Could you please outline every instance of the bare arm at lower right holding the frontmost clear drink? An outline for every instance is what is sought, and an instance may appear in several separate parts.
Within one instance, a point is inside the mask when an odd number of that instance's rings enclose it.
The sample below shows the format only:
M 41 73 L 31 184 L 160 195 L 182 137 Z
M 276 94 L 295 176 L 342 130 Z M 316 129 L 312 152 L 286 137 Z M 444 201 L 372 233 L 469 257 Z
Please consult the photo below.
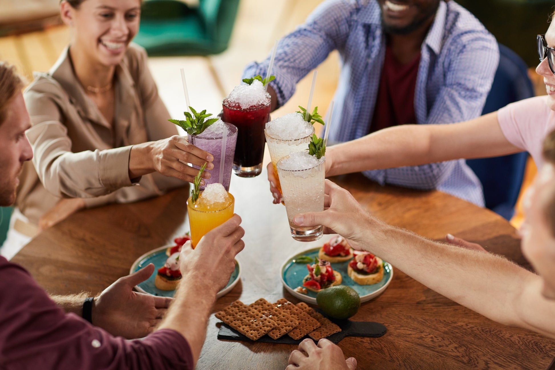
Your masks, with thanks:
M 295 216 L 300 226 L 324 225 L 351 246 L 377 254 L 434 291 L 499 323 L 555 338 L 555 301 L 541 278 L 507 259 L 430 241 L 370 216 L 345 189 L 326 180 L 329 208 Z M 431 274 L 430 271 L 434 273 Z

